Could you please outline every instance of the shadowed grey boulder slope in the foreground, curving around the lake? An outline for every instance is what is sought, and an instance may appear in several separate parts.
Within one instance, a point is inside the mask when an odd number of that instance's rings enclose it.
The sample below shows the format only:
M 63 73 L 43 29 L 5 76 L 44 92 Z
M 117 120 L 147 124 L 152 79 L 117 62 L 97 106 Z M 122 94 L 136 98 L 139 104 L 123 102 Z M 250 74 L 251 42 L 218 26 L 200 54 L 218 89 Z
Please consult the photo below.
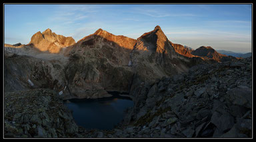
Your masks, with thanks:
M 56 91 L 5 93 L 5 137 L 251 137 L 251 67 L 250 57 L 142 82 L 111 131 L 77 127 Z

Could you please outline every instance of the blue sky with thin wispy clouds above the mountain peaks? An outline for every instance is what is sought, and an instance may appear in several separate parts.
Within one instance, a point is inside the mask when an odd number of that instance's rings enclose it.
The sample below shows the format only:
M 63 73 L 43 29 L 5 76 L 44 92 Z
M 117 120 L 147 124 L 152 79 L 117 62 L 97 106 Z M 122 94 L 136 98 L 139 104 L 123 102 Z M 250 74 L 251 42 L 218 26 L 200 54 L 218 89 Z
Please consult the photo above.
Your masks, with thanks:
M 159 25 L 173 43 L 251 52 L 251 5 L 5 5 L 5 43 L 37 31 L 79 41 L 101 28 L 137 39 Z

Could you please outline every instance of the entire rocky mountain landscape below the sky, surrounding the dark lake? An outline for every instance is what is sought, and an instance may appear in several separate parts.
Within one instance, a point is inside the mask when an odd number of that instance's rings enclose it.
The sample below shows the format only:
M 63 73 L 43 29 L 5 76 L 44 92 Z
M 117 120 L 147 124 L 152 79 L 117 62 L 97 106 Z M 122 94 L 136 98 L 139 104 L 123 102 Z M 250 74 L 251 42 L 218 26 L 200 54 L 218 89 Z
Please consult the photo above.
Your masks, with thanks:
M 98 29 L 77 42 L 39 31 L 27 45 L 5 44 L 4 135 L 252 137 L 251 59 L 172 43 L 159 26 L 137 39 Z M 134 105 L 109 131 L 79 127 L 63 103 L 113 91 Z

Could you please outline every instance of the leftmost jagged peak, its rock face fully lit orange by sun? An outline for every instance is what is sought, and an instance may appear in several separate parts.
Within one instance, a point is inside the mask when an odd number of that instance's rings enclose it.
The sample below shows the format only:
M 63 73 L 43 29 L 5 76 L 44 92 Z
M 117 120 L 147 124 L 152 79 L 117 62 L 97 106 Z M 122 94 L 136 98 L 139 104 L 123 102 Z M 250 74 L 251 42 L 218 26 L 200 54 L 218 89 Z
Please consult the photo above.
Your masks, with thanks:
M 72 37 L 64 37 L 52 33 L 51 29 L 47 29 L 41 33 L 35 33 L 31 37 L 29 45 L 33 45 L 39 51 L 49 51 L 49 53 L 59 53 L 63 47 L 73 45 L 75 40 Z

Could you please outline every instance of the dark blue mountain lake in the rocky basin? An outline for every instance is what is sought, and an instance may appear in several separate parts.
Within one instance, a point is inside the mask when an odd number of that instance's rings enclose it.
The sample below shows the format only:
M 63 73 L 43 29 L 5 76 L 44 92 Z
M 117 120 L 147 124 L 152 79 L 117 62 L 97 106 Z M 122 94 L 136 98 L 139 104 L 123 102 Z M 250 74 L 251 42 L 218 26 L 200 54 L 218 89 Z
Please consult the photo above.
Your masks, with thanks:
M 77 125 L 87 129 L 113 129 L 120 123 L 128 107 L 133 107 L 129 97 L 114 95 L 100 99 L 69 99 L 65 105 L 73 111 Z

